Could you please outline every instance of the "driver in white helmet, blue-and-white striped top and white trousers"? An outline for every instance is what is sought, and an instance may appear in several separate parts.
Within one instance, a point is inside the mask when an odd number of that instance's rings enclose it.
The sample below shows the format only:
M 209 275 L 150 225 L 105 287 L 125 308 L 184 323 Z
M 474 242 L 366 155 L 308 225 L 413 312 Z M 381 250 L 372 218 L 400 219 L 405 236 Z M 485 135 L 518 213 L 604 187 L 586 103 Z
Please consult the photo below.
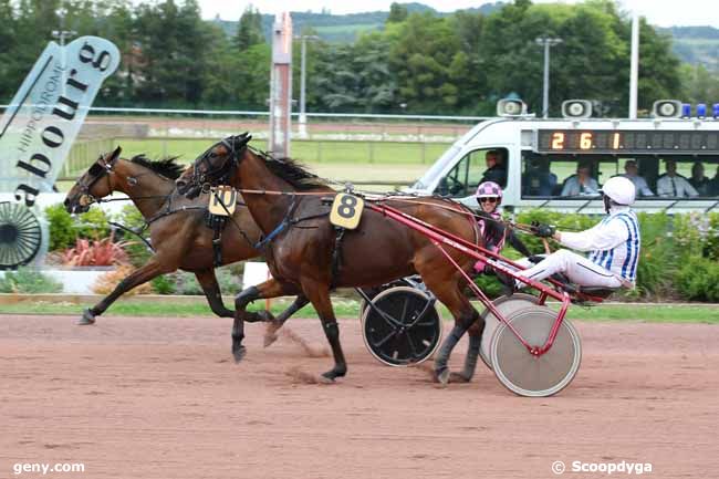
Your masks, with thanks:
M 590 251 L 588 258 L 561 249 L 546 256 L 518 274 L 541 281 L 554 273 L 564 273 L 581 287 L 634 288 L 639 261 L 640 236 L 634 204 L 634 184 L 622 176 L 609 178 L 602 188 L 607 216 L 594 228 L 581 232 L 556 231 L 553 226 L 539 225 L 536 235 L 553 238 L 565 247 Z M 527 259 L 520 261 L 530 265 Z M 517 288 L 525 284 L 517 280 Z

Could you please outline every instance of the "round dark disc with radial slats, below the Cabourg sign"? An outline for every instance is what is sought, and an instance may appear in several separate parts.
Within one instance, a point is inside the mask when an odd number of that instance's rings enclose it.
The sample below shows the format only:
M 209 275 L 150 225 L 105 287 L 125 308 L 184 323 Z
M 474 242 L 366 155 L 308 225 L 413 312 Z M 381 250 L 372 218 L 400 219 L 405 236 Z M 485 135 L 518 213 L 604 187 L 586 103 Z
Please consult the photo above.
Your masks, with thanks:
M 0 202 L 0 270 L 28 264 L 40 251 L 40 221 L 25 206 Z

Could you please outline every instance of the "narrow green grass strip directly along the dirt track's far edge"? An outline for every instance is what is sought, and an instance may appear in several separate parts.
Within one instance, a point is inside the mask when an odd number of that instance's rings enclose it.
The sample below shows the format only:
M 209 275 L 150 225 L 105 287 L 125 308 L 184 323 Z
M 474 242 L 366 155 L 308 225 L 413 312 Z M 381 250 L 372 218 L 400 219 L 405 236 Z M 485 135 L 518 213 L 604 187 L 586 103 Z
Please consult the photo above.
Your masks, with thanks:
M 272 312 L 278 314 L 289 304 L 288 300 L 272 302 Z M 333 301 L 337 317 L 359 317 L 359 305 L 355 300 L 335 299 Z M 231 305 L 226 301 L 226 305 Z M 25 302 L 19 304 L 2 305 L 2 313 L 6 314 L 69 314 L 80 315 L 82 310 L 91 304 L 71 303 L 40 303 Z M 258 301 L 249 310 L 258 311 L 264 306 L 264 302 Z M 555 308 L 556 305 L 553 305 Z M 442 306 L 440 312 L 444 319 L 449 320 L 449 312 Z M 207 303 L 197 299 L 190 304 L 174 303 L 150 303 L 135 300 L 118 301 L 105 313 L 105 315 L 126 316 L 177 316 L 195 317 L 211 316 Z M 305 306 L 295 313 L 295 317 L 316 317 L 312 306 Z M 622 304 L 609 303 L 595 305 L 593 308 L 581 308 L 573 305 L 570 309 L 569 317 L 581 321 L 639 321 L 647 323 L 706 323 L 719 324 L 719 306 L 716 305 L 654 305 L 654 304 Z

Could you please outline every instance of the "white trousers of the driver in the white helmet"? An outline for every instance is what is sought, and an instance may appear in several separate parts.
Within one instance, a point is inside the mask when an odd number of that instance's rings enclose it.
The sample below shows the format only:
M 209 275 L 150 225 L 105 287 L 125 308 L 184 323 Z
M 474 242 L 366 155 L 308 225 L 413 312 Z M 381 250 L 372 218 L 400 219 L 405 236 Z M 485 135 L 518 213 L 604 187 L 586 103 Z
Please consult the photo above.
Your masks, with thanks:
M 535 281 L 541 281 L 554 273 L 564 273 L 572 283 L 581 287 L 619 288 L 622 285 L 622 281 L 612 271 L 570 250 L 554 251 L 534 265 L 527 258 L 517 262 L 525 268 L 531 267 L 518 274 Z M 525 285 L 521 281 L 517 281 L 517 283 L 519 288 Z

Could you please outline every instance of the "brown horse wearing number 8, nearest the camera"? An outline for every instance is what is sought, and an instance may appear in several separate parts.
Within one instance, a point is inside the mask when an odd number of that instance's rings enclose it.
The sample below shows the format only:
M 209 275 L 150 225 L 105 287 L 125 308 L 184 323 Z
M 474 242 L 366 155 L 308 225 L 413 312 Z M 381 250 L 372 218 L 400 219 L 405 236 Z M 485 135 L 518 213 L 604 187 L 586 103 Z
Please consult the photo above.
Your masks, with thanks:
M 332 346 L 334 367 L 321 376 L 332 382 L 344 376 L 347 366 L 330 291 L 343 287 L 372 287 L 419 273 L 455 317 L 455 329 L 435 361 L 437 379 L 449 381 L 447 361 L 451 350 L 463 333 L 477 324 L 470 332 L 473 364 L 468 364 L 471 363 L 470 354 L 466 363 L 473 372 L 483 320 L 462 294 L 460 272 L 431 240 L 365 209 L 359 226 L 345 231 L 343 240 L 337 241 L 337 230 L 327 219 L 329 206 L 322 199 L 334 196 L 335 191 L 294 162 L 274 159 L 253 150 L 248 146 L 250 138 L 243 134 L 213 145 L 177 180 L 178 191 L 188 197 L 220 184 L 240 189 L 250 214 L 269 238 L 264 254 L 273 279 L 238 295 L 236 319 L 247 319 L 243 310 L 249 301 L 303 293 L 317 311 Z M 470 211 L 458 204 L 439 198 L 388 199 L 386 204 L 468 241 L 478 241 L 476 223 L 468 216 Z M 471 258 L 455 250 L 448 253 L 465 271 L 471 269 Z

